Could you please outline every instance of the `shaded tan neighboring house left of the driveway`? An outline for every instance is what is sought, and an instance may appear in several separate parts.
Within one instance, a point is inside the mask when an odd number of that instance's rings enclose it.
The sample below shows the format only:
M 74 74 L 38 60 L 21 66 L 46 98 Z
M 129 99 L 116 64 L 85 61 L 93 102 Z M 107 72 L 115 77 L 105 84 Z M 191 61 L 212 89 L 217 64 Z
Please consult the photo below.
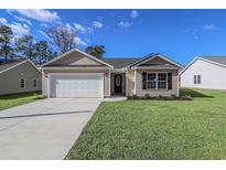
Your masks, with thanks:
M 41 91 L 42 72 L 30 60 L 0 64 L 0 95 Z

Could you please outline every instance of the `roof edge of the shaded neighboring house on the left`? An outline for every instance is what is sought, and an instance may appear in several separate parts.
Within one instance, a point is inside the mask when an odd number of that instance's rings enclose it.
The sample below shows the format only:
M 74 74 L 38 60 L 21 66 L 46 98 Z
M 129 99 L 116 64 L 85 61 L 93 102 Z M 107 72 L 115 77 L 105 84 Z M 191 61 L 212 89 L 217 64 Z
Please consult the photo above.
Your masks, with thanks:
M 20 60 L 13 60 L 13 61 L 9 61 L 7 63 L 3 63 L 0 65 L 0 74 L 3 73 L 3 72 L 7 72 L 13 67 L 17 67 L 23 63 L 26 63 L 26 62 L 30 62 L 40 73 L 41 71 L 36 67 L 36 65 L 34 65 L 33 62 L 31 62 L 30 60 L 28 59 L 20 59 Z

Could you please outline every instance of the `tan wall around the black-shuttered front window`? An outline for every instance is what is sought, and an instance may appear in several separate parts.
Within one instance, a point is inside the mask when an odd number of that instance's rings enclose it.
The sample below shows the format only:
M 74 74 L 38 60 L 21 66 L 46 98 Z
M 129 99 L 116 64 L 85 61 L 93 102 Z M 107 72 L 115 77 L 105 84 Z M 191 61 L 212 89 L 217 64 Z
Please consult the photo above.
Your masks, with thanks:
M 172 73 L 172 89 L 142 89 L 142 72 L 171 72 Z M 137 71 L 137 77 L 136 77 L 136 91 L 137 96 L 144 96 L 146 94 L 149 94 L 150 96 L 172 96 L 177 95 L 177 71 L 175 70 L 168 70 L 168 71 L 161 71 L 161 70 L 142 70 Z

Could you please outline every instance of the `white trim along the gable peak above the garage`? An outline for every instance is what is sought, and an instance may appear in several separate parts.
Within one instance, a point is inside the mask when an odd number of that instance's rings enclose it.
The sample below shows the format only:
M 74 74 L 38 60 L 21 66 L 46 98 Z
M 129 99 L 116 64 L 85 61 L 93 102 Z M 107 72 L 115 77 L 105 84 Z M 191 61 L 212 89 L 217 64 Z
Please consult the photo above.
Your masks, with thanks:
M 80 50 L 78 50 L 78 49 L 72 49 L 72 50 L 69 50 L 69 51 L 67 51 L 67 52 L 65 52 L 65 53 L 58 55 L 57 57 L 54 57 L 53 60 L 51 60 L 51 61 L 44 63 L 44 64 L 42 65 L 42 67 L 45 66 L 45 65 L 47 65 L 47 64 L 51 64 L 51 63 L 53 63 L 53 62 L 55 62 L 55 61 L 57 61 L 57 60 L 60 60 L 60 59 L 62 59 L 62 57 L 64 57 L 64 56 L 66 56 L 66 55 L 68 55 L 68 54 L 71 54 L 71 53 L 73 53 L 73 52 L 78 52 L 78 53 L 80 53 L 80 54 L 83 54 L 83 55 L 85 55 L 85 56 L 87 56 L 87 57 L 89 57 L 89 59 L 93 59 L 94 61 L 97 61 L 97 62 L 99 62 L 99 63 L 101 63 L 101 64 L 105 64 L 105 65 L 107 65 L 107 66 L 114 68 L 112 65 L 110 65 L 110 64 L 108 64 L 108 63 L 106 63 L 106 62 L 104 62 L 104 61 L 101 61 L 101 60 L 99 60 L 99 59 L 97 59 L 97 57 L 95 57 L 95 56 L 92 56 L 92 55 L 89 55 L 89 54 L 87 54 L 87 53 L 85 53 L 85 52 L 83 52 L 83 51 L 80 51 Z

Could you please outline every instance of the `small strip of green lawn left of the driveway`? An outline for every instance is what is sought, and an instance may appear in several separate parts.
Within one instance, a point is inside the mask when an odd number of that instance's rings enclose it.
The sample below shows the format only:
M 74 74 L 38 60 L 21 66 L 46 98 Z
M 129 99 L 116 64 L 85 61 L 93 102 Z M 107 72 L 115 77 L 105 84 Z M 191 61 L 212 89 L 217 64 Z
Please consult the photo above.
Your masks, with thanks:
M 15 95 L 0 96 L 0 110 L 24 105 L 41 98 L 41 93 L 23 93 Z

